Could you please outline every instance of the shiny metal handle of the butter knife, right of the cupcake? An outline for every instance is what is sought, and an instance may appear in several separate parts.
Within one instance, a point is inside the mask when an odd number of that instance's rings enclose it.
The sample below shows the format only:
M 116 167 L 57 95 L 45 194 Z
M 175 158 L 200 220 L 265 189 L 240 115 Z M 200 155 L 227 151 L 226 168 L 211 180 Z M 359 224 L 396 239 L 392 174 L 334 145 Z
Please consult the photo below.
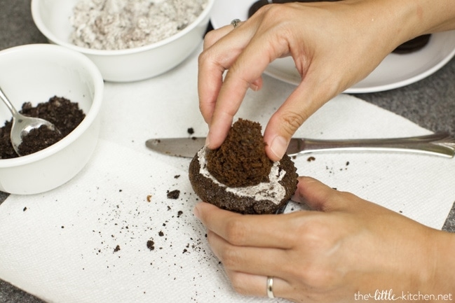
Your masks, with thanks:
M 312 153 L 315 150 L 400 151 L 454 157 L 455 139 L 447 132 L 393 139 L 297 139 L 291 141 L 288 155 Z

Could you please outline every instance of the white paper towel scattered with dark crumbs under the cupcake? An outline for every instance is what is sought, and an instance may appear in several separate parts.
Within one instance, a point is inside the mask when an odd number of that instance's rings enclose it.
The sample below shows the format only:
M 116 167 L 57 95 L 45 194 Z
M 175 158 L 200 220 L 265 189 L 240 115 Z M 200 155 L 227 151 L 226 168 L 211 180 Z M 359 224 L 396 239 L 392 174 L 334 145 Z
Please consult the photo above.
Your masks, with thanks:
M 147 150 L 150 138 L 205 136 L 197 55 L 163 76 L 106 83 L 92 160 L 69 183 L 0 205 L 0 278 L 48 302 L 264 302 L 233 292 L 193 216 L 188 159 Z M 294 86 L 264 76 L 238 117 L 265 127 Z M 317 139 L 429 134 L 365 101 L 340 95 L 296 136 Z M 315 153 L 299 174 L 354 192 L 440 229 L 455 201 L 455 160 L 409 153 Z M 177 199 L 168 192 L 179 190 Z M 151 245 L 153 241 L 153 249 Z M 149 245 L 148 245 L 149 244 Z M 265 286 L 264 286 L 265 293 Z M 273 300 L 273 302 L 281 300 Z

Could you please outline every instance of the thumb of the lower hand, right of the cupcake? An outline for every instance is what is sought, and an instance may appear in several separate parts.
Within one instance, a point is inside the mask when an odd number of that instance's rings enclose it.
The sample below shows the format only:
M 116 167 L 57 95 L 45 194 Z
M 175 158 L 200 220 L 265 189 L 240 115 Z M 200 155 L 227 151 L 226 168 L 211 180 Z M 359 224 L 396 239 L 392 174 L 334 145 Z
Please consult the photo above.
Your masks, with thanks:
M 305 203 L 317 211 L 336 211 L 346 206 L 347 198 L 344 195 L 350 194 L 334 190 L 314 178 L 301 176 L 291 199 Z M 353 199 L 349 197 L 348 200 Z

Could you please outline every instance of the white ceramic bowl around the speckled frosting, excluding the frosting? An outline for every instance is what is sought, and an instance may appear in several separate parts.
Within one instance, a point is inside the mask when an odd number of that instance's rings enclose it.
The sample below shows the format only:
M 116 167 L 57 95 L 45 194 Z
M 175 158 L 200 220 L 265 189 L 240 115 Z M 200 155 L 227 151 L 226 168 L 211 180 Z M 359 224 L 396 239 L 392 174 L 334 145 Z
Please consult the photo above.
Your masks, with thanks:
M 208 0 L 201 15 L 174 36 L 162 41 L 125 50 L 92 50 L 70 42 L 69 17 L 77 0 L 32 0 L 36 27 L 50 43 L 82 52 L 100 69 L 104 80 L 129 82 L 157 76 L 180 64 L 203 40 L 210 10 L 215 0 Z

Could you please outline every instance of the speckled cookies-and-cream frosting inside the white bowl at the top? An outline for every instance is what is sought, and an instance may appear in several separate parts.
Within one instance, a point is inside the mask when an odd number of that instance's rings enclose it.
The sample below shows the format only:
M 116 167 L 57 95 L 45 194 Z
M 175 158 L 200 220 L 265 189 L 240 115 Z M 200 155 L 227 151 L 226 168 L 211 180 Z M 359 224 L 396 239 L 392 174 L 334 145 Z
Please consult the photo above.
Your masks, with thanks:
M 207 5 L 207 0 L 79 0 L 70 17 L 71 41 L 97 50 L 141 47 L 182 31 Z

